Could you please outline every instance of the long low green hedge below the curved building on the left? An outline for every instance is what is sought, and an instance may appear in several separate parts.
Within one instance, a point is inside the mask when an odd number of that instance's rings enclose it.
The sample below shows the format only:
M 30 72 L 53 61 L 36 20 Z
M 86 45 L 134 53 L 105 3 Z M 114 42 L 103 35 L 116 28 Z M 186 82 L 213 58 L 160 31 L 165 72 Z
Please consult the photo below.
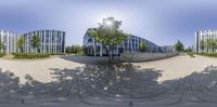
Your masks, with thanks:
M 14 58 L 46 58 L 50 54 L 44 53 L 13 53 Z

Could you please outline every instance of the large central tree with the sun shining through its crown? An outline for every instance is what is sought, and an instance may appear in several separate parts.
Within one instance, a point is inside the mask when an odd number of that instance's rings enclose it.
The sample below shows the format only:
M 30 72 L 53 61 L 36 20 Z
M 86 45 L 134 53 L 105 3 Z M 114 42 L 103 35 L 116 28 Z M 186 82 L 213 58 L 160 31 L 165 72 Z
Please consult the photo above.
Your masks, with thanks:
M 127 40 L 129 35 L 124 34 L 119 29 L 122 21 L 116 21 L 114 17 L 103 18 L 102 23 L 99 23 L 99 27 L 91 29 L 88 34 L 94 39 L 94 41 L 106 45 L 108 52 L 108 62 L 113 58 L 113 51 L 115 46 L 118 46 L 123 41 Z

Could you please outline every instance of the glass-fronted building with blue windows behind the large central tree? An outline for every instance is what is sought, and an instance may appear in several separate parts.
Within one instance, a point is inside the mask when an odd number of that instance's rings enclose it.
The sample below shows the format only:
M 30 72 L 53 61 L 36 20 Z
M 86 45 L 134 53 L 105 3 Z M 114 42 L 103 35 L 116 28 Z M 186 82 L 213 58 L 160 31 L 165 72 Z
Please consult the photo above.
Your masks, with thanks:
M 89 28 L 88 30 L 91 30 Z M 88 31 L 87 31 L 88 32 Z M 85 53 L 87 55 L 93 56 L 106 56 L 108 53 L 106 52 L 106 46 L 102 45 L 99 42 L 95 42 L 91 36 L 86 32 L 84 37 L 82 45 L 85 48 Z M 146 45 L 146 52 L 163 52 L 161 46 L 156 45 L 155 43 L 143 39 L 138 36 L 130 36 L 123 44 L 117 45 L 114 51 L 114 55 L 119 55 L 120 53 L 139 53 L 140 52 L 140 44 L 144 42 Z M 170 50 L 167 48 L 167 50 Z

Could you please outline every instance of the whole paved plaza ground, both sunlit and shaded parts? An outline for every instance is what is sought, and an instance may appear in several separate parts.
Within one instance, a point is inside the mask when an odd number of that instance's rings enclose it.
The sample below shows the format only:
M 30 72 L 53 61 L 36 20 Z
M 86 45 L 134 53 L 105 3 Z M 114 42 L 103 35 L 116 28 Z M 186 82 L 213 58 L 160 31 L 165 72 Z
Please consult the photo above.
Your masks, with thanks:
M 9 70 L 0 71 L 0 106 L 217 106 L 217 58 L 90 65 L 93 59 L 0 59 L 0 68 Z

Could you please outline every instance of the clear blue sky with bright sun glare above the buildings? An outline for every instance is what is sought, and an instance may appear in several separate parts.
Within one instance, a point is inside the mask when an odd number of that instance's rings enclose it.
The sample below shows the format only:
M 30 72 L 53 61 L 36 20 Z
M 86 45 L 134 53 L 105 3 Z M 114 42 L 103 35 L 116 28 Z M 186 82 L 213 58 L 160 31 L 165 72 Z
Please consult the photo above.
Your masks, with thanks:
M 126 34 L 189 46 L 196 30 L 217 29 L 216 5 L 217 0 L 0 0 L 0 29 L 64 30 L 66 44 L 82 44 L 88 28 L 114 16 Z

